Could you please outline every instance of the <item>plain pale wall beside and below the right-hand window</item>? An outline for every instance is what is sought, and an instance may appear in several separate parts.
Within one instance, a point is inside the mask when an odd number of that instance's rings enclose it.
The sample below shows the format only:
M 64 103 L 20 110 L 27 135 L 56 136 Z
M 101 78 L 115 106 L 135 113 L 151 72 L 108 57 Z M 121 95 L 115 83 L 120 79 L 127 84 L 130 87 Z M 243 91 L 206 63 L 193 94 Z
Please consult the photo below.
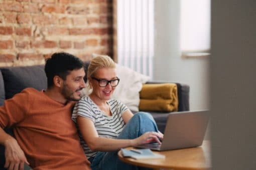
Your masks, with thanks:
M 181 58 L 180 0 L 155 0 L 154 80 L 190 86 L 190 110 L 208 109 L 209 58 Z

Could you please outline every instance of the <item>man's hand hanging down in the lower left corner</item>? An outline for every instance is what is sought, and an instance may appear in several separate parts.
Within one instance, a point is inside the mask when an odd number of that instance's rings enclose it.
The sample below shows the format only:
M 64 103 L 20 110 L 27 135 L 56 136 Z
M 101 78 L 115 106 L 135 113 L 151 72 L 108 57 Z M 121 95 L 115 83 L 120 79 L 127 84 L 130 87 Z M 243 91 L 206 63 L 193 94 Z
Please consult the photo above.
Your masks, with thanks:
M 8 170 L 23 170 L 24 163 L 29 165 L 29 162 L 21 149 L 20 145 L 18 144 L 17 140 L 13 137 L 9 137 L 5 140 L 5 156 L 6 156 L 6 163 L 5 168 Z

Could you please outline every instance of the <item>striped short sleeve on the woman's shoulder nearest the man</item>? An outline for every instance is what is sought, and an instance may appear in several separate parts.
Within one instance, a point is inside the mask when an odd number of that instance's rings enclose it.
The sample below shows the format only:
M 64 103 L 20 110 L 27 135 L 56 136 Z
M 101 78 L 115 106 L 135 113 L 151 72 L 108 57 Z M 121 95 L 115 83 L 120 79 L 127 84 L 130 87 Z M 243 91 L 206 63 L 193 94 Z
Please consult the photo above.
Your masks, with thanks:
M 91 104 L 84 98 L 81 98 L 74 106 L 72 120 L 76 122 L 77 116 L 89 118 L 93 122 L 96 120 L 95 115 L 93 115 Z

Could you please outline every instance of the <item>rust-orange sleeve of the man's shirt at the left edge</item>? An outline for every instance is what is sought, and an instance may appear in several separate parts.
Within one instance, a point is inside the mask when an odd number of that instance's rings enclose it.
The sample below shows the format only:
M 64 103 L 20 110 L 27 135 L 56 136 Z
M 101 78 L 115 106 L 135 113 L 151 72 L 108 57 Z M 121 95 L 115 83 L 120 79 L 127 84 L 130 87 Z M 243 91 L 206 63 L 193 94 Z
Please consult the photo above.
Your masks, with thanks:
M 19 125 L 25 119 L 29 110 L 29 93 L 23 90 L 14 97 L 5 100 L 4 105 L 0 106 L 0 127 L 11 127 Z

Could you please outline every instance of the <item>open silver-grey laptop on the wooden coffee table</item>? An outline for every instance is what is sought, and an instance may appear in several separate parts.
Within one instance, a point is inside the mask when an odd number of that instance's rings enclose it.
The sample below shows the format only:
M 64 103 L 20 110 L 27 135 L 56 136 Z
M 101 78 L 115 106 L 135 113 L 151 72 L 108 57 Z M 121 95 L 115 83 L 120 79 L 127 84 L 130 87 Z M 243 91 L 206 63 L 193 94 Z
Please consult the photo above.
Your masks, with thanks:
M 169 113 L 162 143 L 138 145 L 152 150 L 172 150 L 202 145 L 209 110 L 180 111 Z

